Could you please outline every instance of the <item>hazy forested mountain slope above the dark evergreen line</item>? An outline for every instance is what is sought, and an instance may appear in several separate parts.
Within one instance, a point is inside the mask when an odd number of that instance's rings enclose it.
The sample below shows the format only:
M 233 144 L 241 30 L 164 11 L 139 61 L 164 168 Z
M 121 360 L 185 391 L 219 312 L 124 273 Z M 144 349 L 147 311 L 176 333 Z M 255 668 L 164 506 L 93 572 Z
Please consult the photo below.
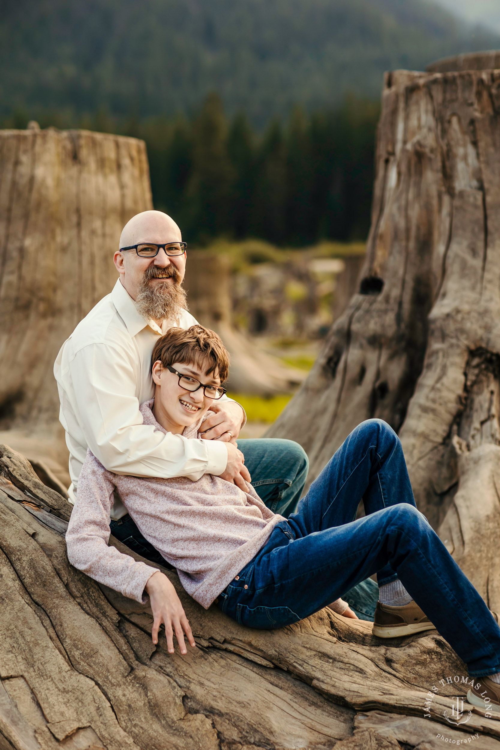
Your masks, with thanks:
M 500 46 L 424 0 L 3 0 L 0 117 L 189 113 L 217 90 L 256 125 L 379 97 L 382 73 Z

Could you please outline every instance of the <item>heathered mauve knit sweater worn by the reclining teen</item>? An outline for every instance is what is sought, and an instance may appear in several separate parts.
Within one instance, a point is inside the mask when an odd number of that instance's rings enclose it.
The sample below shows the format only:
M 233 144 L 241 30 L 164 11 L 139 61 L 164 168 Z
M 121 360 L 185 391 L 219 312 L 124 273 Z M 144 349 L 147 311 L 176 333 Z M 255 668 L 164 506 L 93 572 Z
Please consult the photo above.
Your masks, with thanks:
M 164 433 L 152 406 L 153 401 L 142 404 L 143 422 Z M 199 437 L 200 423 L 185 428 L 183 437 Z M 244 492 L 211 474 L 197 481 L 118 475 L 88 450 L 66 532 L 68 559 L 94 580 L 142 603 L 157 568 L 107 546 L 115 488 L 142 535 L 177 568 L 184 589 L 205 609 L 285 520 L 264 505 L 251 484 Z M 342 599 L 334 602 L 340 613 L 346 607 Z

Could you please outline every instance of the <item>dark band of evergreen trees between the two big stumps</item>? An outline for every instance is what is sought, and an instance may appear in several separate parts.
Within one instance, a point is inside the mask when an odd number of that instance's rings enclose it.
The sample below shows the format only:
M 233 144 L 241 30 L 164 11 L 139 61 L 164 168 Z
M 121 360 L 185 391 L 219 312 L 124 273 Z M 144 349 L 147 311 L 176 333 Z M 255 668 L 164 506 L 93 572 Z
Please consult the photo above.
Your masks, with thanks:
M 191 241 L 297 246 L 367 236 L 378 116 L 378 104 L 351 97 L 310 115 L 296 107 L 258 134 L 211 94 L 195 118 L 156 118 L 135 133 L 148 146 L 154 205 Z

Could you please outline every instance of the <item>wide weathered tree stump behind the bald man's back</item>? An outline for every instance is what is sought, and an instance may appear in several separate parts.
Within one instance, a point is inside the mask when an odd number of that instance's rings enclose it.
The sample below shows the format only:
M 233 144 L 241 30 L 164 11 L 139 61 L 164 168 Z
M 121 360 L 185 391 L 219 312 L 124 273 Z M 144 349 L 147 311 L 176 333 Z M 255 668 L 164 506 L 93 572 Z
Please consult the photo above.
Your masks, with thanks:
M 121 229 L 148 208 L 144 142 L 0 131 L 0 428 L 57 421 L 55 356 L 111 291 Z

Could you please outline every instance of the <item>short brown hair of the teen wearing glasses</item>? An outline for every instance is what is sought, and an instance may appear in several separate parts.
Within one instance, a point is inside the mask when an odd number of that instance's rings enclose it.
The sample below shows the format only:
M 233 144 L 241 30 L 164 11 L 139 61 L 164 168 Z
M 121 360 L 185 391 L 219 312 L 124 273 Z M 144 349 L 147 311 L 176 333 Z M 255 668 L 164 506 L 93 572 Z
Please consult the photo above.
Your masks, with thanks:
M 220 382 L 223 383 L 229 374 L 229 354 L 220 340 L 220 336 L 203 326 L 191 326 L 189 329 L 171 328 L 158 339 L 151 357 L 151 369 L 154 362 L 160 360 L 162 366 L 182 362 L 185 365 L 199 365 L 207 375 L 219 370 Z

